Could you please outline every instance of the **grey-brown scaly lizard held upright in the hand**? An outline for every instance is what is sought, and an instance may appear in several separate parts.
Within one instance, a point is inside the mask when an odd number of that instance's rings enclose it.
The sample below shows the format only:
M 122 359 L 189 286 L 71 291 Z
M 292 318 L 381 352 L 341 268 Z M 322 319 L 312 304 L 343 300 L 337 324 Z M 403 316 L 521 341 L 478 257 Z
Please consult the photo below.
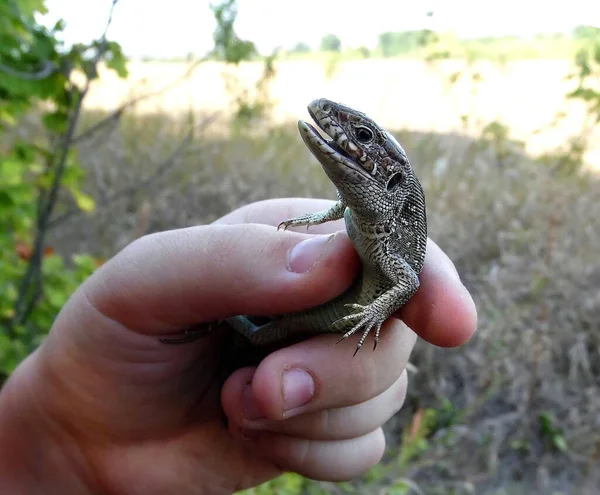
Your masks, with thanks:
M 254 346 L 268 346 L 298 335 L 342 333 L 341 342 L 362 331 L 354 355 L 419 288 L 427 246 L 423 188 L 398 141 L 367 115 L 321 98 L 308 105 L 313 125 L 298 121 L 305 145 L 337 189 L 338 200 L 327 210 L 307 213 L 279 224 L 319 225 L 344 219 L 361 260 L 353 285 L 338 297 L 304 311 L 279 315 L 257 325 L 251 317 L 225 321 Z M 203 330 L 189 330 L 179 343 L 195 340 Z

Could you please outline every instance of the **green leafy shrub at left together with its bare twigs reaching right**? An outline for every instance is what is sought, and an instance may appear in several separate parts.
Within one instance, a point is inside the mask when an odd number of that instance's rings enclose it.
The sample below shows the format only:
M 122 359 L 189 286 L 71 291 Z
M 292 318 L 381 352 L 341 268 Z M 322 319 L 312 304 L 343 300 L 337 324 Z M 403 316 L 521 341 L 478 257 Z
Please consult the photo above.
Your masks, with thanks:
M 85 170 L 78 161 L 77 145 L 111 131 L 129 109 L 176 86 L 206 60 L 192 64 L 158 91 L 129 98 L 81 130 L 80 117 L 100 66 L 127 76 L 121 47 L 107 38 L 117 4 L 118 0 L 110 3 L 103 32 L 96 40 L 65 47 L 58 36 L 63 21 L 48 28 L 37 20 L 46 13 L 44 0 L 0 2 L 0 137 L 8 137 L 1 141 L 8 147 L 0 154 L 0 381 L 39 344 L 70 294 L 99 263 L 92 256 L 75 255 L 67 267 L 47 245 L 50 230 L 83 211 L 108 206 L 150 187 L 189 153 L 198 128 L 211 122 L 208 118 L 195 125 L 191 118 L 185 135 L 146 178 L 136 178 L 111 193 L 99 184 L 98 198 L 82 191 Z M 225 0 L 213 9 L 218 28 L 210 57 L 229 63 L 256 54 L 251 42 L 235 34 L 235 5 Z M 272 74 L 272 60 L 267 68 L 265 73 Z M 25 115 L 39 116 L 45 142 L 21 131 L 7 132 Z M 93 173 L 100 183 L 103 171 L 95 167 Z M 59 212 L 65 193 L 74 204 Z

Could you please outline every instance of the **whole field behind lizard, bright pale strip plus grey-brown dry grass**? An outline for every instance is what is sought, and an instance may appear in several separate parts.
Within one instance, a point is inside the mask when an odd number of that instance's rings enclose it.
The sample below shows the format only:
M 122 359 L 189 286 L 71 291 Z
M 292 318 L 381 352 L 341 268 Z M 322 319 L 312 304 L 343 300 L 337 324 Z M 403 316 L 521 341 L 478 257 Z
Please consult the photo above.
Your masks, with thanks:
M 66 217 L 52 243 L 65 254 L 107 257 L 144 232 L 210 222 L 251 201 L 333 198 L 289 122 L 306 117 L 314 97 L 344 101 L 395 130 L 415 164 L 430 236 L 472 291 L 478 331 L 459 349 L 418 344 L 406 406 L 387 428 L 389 455 L 372 473 L 296 491 L 284 477 L 262 493 L 597 493 L 600 182 L 593 173 L 564 173 L 572 157 L 556 151 L 581 132 L 584 109 L 564 99 L 566 62 L 467 69 L 481 72 L 481 82 L 450 85 L 449 75 L 465 70 L 459 62 L 365 60 L 333 70 L 284 63 L 271 85 L 281 125 L 255 122 L 228 135 L 209 125 L 176 151 L 191 114 L 201 123 L 230 108 L 223 67 L 209 63 L 79 147 L 98 209 Z M 184 71 L 132 64 L 129 81 L 106 77 L 90 95 L 84 125 Z M 239 76 L 259 73 L 247 64 Z M 559 125 L 534 133 L 558 112 L 567 115 Z M 491 120 L 525 148 L 482 138 Z M 552 154 L 541 162 L 541 152 Z M 586 155 L 590 164 L 600 163 L 597 153 Z

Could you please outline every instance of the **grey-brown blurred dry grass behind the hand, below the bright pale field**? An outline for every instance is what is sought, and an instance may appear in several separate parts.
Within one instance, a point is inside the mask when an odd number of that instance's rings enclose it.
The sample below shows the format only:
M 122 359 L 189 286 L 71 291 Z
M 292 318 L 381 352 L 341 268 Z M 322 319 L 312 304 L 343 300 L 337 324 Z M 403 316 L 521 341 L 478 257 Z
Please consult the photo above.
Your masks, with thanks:
M 168 114 L 138 115 L 86 142 L 87 189 L 102 202 L 152 176 L 185 127 Z M 388 438 L 397 445 L 403 425 L 433 408 L 428 446 L 403 462 L 392 449 L 359 491 L 404 477 L 428 494 L 590 493 L 585 487 L 599 481 L 589 469 L 600 441 L 599 181 L 553 174 L 518 146 L 499 161 L 481 140 L 397 135 L 426 191 L 430 236 L 472 291 L 479 328 L 460 349 L 418 345 L 418 372 Z M 52 242 L 65 253 L 110 256 L 146 225 L 158 231 L 210 222 L 281 196 L 334 197 L 293 125 L 222 139 L 199 133 L 148 187 L 101 206 L 91 221 L 70 218 Z M 542 413 L 564 435 L 565 452 L 540 429 Z

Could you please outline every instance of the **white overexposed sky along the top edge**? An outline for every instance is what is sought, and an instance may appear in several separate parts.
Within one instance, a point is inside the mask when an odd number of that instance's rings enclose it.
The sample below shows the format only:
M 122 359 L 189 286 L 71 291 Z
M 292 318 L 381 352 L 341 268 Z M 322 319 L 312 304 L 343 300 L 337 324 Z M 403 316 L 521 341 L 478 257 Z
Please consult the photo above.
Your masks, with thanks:
M 213 0 L 214 1 L 214 0 Z M 235 29 L 263 54 L 302 41 L 317 47 L 325 34 L 346 47 L 373 48 L 385 31 L 452 30 L 461 37 L 566 32 L 600 27 L 597 0 L 238 0 Z M 66 21 L 65 42 L 86 42 L 104 30 L 110 0 L 47 0 L 52 25 Z M 426 13 L 432 11 L 432 17 Z M 108 37 L 130 57 L 204 55 L 215 22 L 210 0 L 120 0 Z

